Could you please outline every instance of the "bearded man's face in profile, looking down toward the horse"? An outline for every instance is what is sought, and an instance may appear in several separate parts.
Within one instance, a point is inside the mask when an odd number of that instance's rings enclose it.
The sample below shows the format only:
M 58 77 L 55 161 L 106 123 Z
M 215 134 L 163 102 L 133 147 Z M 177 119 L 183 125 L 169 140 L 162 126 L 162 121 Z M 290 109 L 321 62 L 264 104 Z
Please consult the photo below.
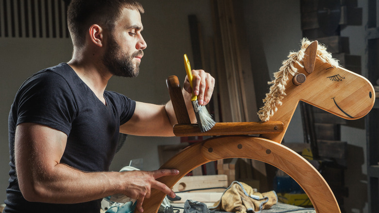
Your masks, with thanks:
M 139 12 L 124 8 L 113 32 L 108 36 L 103 55 L 103 63 L 113 75 L 138 75 L 142 50 L 146 48 L 141 35 L 142 29 Z

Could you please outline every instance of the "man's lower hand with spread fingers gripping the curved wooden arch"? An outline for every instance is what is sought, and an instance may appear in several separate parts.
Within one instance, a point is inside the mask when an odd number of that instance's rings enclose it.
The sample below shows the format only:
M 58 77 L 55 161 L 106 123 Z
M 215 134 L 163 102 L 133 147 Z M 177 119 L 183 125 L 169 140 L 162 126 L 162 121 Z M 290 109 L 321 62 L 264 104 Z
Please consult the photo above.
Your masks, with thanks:
M 176 196 L 168 186 L 156 180 L 159 177 L 179 174 L 179 171 L 176 169 L 160 169 L 155 171 L 135 170 L 122 173 L 124 173 L 128 182 L 127 186 L 125 186 L 126 193 L 124 194 L 130 198 L 137 199 L 137 209 L 141 213 L 143 212 L 143 200 L 145 197 L 150 197 L 152 188 L 160 190 L 172 198 Z

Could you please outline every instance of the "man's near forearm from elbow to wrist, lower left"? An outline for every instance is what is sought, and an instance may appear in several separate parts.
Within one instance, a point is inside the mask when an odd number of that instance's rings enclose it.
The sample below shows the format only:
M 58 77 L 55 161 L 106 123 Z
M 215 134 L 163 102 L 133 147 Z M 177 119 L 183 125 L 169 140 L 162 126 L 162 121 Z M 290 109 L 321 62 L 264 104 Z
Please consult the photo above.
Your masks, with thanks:
M 19 185 L 25 199 L 47 203 L 81 203 L 120 194 L 125 189 L 119 172 L 82 172 L 66 164 L 50 171 L 32 171 L 25 179 L 19 174 Z

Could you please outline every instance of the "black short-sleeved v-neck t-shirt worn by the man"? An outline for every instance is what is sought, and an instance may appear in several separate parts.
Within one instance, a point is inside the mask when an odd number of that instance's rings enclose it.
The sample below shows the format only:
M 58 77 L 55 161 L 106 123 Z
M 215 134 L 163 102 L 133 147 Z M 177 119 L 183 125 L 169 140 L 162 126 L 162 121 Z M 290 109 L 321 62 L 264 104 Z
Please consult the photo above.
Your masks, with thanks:
M 120 125 L 132 117 L 136 102 L 111 91 L 104 91 L 104 98 L 106 105 L 66 63 L 39 71 L 21 85 L 8 118 L 11 170 L 5 213 L 99 213 L 101 200 L 79 204 L 26 201 L 18 186 L 14 142 L 17 124 L 47 125 L 68 135 L 61 163 L 86 172 L 108 171 Z

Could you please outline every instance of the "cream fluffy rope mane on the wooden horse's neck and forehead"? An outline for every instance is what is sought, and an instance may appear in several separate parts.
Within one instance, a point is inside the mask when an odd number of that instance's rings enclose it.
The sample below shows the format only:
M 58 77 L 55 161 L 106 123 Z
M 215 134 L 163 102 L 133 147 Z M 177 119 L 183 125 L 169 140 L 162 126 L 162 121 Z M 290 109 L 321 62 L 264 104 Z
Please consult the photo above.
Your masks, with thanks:
M 258 117 L 261 121 L 269 121 L 270 117 L 274 115 L 277 111 L 277 107 L 282 105 L 282 100 L 286 96 L 286 86 L 288 79 L 292 78 L 294 75 L 298 74 L 295 64 L 304 68 L 301 61 L 304 58 L 305 50 L 312 43 L 312 41 L 307 38 L 301 40 L 301 49 L 298 52 L 290 52 L 288 59 L 282 62 L 282 66 L 279 71 L 274 73 L 275 80 L 268 82 L 272 84 L 270 87 L 270 92 L 266 94 L 266 98 L 263 99 L 264 106 L 262 106 L 258 111 Z M 319 58 L 323 63 L 328 63 L 332 67 L 339 67 L 337 59 L 334 59 L 331 53 L 327 52 L 327 48 L 323 44 L 318 44 L 316 57 Z

